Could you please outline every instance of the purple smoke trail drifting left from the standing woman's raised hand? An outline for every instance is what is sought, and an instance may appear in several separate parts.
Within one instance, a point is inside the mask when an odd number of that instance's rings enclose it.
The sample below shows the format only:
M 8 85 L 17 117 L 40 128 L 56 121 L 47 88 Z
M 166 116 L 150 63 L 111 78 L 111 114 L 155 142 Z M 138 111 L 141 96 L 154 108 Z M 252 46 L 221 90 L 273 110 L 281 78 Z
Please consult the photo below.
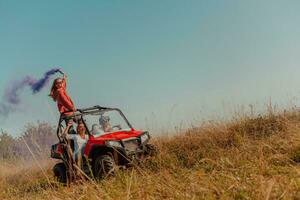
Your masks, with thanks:
M 47 85 L 51 76 L 57 72 L 61 72 L 61 70 L 54 68 L 47 71 L 44 77 L 39 80 L 26 76 L 22 80 L 12 82 L 4 92 L 3 101 L 0 102 L 0 115 L 8 116 L 9 113 L 15 111 L 16 106 L 21 103 L 20 92 L 23 91 L 25 87 L 29 86 L 33 94 L 36 94 Z

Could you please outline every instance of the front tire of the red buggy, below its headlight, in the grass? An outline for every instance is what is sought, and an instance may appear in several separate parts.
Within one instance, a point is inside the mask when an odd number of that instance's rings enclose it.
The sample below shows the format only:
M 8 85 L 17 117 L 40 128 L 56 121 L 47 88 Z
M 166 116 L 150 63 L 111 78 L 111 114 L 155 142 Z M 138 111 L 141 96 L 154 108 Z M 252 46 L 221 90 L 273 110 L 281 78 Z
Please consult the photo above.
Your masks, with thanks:
M 96 180 L 104 179 L 108 176 L 115 175 L 115 160 L 110 155 L 101 155 L 95 159 L 93 165 L 94 177 Z

